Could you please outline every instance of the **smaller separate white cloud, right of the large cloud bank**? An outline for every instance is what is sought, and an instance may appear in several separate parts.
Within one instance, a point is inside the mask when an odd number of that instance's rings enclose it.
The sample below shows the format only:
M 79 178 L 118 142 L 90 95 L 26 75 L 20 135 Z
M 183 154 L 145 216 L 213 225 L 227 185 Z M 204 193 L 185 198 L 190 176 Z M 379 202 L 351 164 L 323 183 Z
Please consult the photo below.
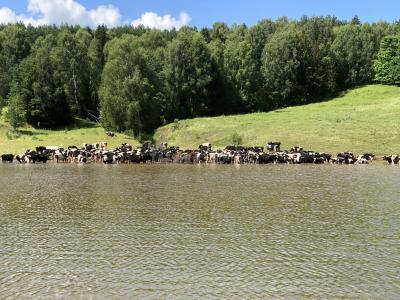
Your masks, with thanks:
M 131 25 L 143 25 L 149 28 L 170 30 L 172 28 L 179 29 L 182 26 L 188 25 L 190 20 L 190 16 L 185 12 L 180 13 L 179 19 L 175 19 L 171 15 L 159 16 L 154 12 L 146 12 L 142 14 L 139 19 L 134 20 Z

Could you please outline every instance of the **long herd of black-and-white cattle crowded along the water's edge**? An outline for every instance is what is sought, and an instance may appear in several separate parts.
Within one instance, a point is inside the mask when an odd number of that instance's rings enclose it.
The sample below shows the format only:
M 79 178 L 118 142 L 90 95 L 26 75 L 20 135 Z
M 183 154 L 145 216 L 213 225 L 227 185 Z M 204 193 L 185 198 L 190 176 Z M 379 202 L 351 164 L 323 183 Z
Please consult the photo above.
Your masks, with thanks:
M 179 147 L 168 147 L 162 143 L 155 147 L 150 142 L 139 148 L 129 144 L 109 150 L 107 143 L 83 144 L 81 147 L 70 146 L 59 148 L 56 146 L 36 147 L 28 149 L 20 155 L 4 154 L 3 162 L 18 163 L 212 163 L 212 164 L 368 164 L 375 159 L 375 155 L 365 153 L 355 155 L 352 152 L 341 152 L 333 157 L 331 154 L 304 150 L 295 146 L 290 150 L 281 151 L 281 143 L 269 142 L 266 147 L 227 146 L 224 150 L 213 151 L 211 144 L 202 144 L 196 150 L 181 150 Z M 389 164 L 399 164 L 399 155 L 384 156 Z

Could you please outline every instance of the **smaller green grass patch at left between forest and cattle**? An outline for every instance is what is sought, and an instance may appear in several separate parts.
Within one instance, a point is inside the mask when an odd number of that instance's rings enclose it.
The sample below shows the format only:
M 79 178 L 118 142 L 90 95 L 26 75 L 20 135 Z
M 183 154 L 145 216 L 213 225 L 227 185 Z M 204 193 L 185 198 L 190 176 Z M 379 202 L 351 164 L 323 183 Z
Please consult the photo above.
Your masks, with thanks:
M 93 144 L 99 142 L 107 142 L 109 148 L 114 148 L 123 142 L 131 145 L 138 144 L 136 140 L 124 134 L 117 134 L 115 137 L 109 138 L 100 125 L 84 120 L 76 120 L 73 126 L 63 130 L 43 130 L 26 127 L 21 128 L 18 132 L 14 132 L 7 123 L 0 122 L 1 154 L 18 154 L 36 146 L 68 147 L 74 145 L 80 147 L 83 143 Z

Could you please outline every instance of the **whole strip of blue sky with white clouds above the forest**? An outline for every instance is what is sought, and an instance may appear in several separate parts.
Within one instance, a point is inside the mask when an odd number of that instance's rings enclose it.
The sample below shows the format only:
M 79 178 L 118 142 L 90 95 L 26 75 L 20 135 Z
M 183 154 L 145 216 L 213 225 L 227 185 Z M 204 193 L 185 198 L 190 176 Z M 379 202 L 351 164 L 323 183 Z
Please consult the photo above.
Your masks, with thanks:
M 211 27 L 214 22 L 246 23 L 281 16 L 335 15 L 362 22 L 400 18 L 400 0 L 0 0 L 0 23 L 142 24 L 172 29 L 185 25 Z

